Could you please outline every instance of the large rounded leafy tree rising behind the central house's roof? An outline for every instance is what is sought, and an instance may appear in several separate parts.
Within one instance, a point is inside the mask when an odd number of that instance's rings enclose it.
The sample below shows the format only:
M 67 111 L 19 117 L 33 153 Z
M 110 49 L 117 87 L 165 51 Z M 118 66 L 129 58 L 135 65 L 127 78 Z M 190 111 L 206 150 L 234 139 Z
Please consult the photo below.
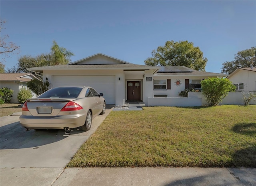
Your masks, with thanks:
M 152 51 L 152 57 L 144 63 L 151 66 L 186 66 L 194 70 L 205 71 L 207 58 L 192 42 L 167 41 L 164 46 L 158 46 Z

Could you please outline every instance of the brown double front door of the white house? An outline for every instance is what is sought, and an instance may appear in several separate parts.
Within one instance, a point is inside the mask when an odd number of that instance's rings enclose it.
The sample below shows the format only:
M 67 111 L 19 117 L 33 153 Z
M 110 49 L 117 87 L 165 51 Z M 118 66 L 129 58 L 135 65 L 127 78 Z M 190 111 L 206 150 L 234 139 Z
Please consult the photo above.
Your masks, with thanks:
M 140 81 L 127 82 L 127 101 L 140 101 Z

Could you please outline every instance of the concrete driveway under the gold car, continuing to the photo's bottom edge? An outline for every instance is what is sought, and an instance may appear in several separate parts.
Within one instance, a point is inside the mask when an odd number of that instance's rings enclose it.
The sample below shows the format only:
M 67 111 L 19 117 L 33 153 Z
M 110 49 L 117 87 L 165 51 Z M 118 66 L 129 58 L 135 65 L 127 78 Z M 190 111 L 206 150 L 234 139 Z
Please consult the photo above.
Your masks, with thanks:
M 1 186 L 51 186 L 65 170 L 66 164 L 78 148 L 100 126 L 106 113 L 92 120 L 92 128 L 64 130 L 25 131 L 19 123 L 20 116 L 0 118 L 0 185 Z

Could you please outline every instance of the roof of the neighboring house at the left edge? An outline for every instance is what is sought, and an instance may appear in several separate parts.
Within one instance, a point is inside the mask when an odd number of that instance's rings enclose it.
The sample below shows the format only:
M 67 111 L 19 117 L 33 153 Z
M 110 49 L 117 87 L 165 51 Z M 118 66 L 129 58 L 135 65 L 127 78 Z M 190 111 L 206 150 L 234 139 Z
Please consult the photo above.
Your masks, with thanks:
M 34 78 L 36 78 L 31 73 L 1 73 L 0 79 L 1 79 L 1 81 L 20 81 L 20 82 L 30 81 L 31 79 L 26 78 L 26 76 L 33 76 Z

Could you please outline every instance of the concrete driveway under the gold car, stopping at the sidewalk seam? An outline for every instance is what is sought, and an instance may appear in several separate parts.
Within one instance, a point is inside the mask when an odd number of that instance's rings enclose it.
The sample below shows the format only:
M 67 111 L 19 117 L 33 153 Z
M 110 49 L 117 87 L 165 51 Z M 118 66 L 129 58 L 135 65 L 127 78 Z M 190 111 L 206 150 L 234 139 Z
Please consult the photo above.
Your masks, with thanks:
M 1 117 L 1 168 L 64 168 L 78 148 L 98 128 L 112 110 L 108 106 L 104 115 L 92 120 L 92 128 L 84 132 L 79 128 L 64 130 L 25 131 L 19 116 Z

